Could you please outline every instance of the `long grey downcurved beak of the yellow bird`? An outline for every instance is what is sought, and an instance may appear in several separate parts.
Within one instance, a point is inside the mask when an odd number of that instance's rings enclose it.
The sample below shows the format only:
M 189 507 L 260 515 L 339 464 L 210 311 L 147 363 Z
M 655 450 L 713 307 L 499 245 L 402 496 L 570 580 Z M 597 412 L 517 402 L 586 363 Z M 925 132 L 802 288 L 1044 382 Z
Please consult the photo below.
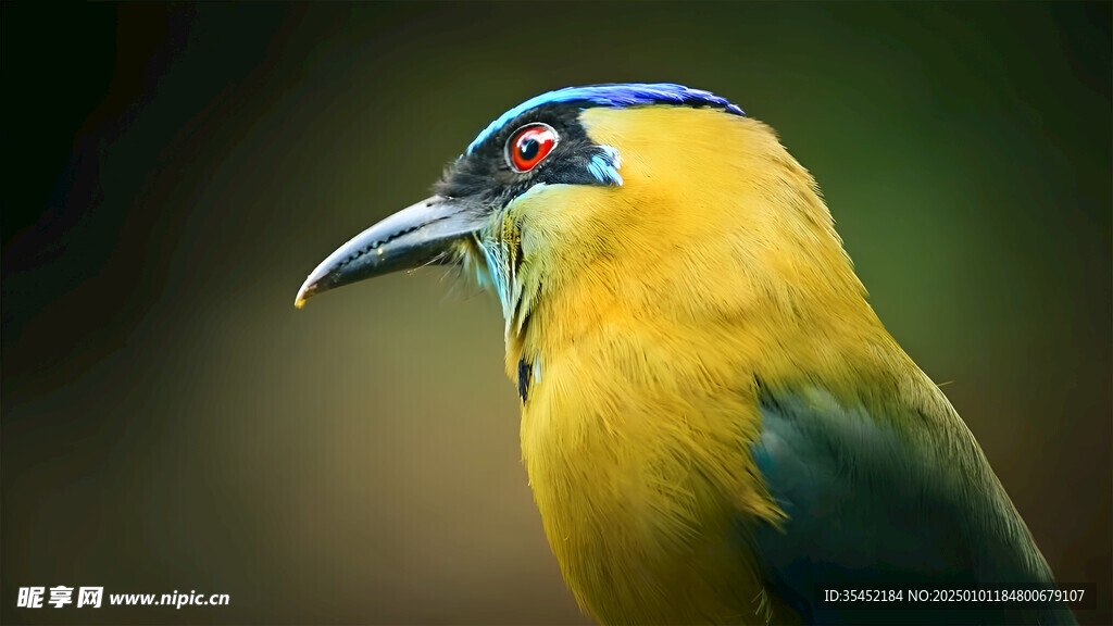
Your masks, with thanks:
M 359 233 L 342 245 L 305 280 L 294 306 L 321 292 L 397 270 L 421 267 L 452 257 L 456 242 L 472 236 L 483 212 L 455 198 L 433 196 Z

